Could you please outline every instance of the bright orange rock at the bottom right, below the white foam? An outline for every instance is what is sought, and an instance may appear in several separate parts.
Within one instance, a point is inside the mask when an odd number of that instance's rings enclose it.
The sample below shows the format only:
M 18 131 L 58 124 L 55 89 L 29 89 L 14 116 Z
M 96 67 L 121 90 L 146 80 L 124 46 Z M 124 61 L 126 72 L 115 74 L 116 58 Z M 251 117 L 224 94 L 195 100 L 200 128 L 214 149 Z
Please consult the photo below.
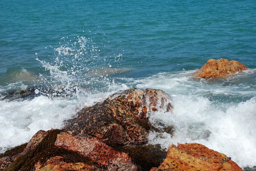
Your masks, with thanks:
M 222 153 L 208 149 L 198 143 L 171 145 L 167 151 L 167 157 L 158 167 L 151 171 L 242 171 L 242 169 L 230 158 Z

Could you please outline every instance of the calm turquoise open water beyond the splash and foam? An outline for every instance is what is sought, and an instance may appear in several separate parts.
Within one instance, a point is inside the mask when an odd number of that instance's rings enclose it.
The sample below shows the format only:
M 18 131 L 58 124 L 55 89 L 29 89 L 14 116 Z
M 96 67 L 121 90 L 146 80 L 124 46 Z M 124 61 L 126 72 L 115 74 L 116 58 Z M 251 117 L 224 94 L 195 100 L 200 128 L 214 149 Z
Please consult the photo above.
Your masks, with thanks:
M 54 51 L 45 47 L 76 35 L 92 38 L 100 56 L 122 54 L 122 67 L 135 69 L 127 76 L 192 70 L 209 58 L 256 68 L 254 0 L 3 0 L 0 6 L 1 78 L 17 67 L 38 73 L 34 54 L 50 61 Z

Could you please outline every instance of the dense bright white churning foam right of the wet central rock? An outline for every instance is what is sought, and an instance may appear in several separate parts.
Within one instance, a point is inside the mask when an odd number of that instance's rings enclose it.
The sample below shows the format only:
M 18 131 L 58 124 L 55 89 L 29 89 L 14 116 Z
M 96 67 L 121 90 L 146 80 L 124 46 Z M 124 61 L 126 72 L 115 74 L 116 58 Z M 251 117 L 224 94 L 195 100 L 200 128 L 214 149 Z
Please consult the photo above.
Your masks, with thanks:
M 230 105 L 227 110 L 205 97 L 177 95 L 173 101 L 173 113 L 155 113 L 150 120 L 174 125 L 174 136 L 151 132 L 149 143 L 159 143 L 163 148 L 201 143 L 232 157 L 240 167 L 256 165 L 256 97 Z

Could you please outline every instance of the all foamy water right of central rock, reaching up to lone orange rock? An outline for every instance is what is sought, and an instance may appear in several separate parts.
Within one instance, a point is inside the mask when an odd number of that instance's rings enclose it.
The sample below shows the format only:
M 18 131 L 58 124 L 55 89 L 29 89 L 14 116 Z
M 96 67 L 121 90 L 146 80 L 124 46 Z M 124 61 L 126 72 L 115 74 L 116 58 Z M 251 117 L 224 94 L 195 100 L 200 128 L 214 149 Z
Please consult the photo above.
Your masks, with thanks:
M 151 132 L 151 144 L 201 143 L 226 154 L 240 167 L 256 165 L 256 70 L 222 79 L 199 79 L 193 71 L 126 78 L 128 85 L 168 92 L 173 113 L 155 113 L 150 121 L 174 125 L 175 134 Z

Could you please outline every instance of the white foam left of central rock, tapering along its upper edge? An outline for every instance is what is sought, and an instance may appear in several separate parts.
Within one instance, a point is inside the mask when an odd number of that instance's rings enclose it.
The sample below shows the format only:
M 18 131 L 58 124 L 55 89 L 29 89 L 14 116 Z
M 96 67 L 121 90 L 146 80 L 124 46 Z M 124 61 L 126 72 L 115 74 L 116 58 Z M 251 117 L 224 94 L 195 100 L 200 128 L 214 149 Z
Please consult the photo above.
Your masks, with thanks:
M 35 97 L 24 101 L 0 101 L 0 153 L 9 147 L 28 142 L 40 129 L 61 128 L 84 106 L 103 101 L 117 90 L 128 89 L 124 84 L 109 84 L 108 91 L 90 93 L 78 90 L 72 98 Z

